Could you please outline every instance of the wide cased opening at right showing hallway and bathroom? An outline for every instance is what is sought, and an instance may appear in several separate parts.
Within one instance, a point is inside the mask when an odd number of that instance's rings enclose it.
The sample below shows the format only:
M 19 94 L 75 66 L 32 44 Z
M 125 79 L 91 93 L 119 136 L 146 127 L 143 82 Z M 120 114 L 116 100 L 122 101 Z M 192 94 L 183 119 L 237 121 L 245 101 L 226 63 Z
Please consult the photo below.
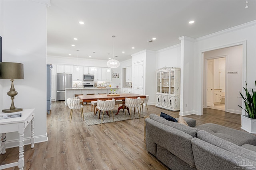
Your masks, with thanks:
M 241 114 L 238 105 L 242 103 L 239 92 L 242 89 L 244 74 L 243 45 L 205 51 L 203 57 L 203 107 Z M 211 72 L 213 74 L 210 74 Z M 212 90 L 208 92 L 209 89 Z

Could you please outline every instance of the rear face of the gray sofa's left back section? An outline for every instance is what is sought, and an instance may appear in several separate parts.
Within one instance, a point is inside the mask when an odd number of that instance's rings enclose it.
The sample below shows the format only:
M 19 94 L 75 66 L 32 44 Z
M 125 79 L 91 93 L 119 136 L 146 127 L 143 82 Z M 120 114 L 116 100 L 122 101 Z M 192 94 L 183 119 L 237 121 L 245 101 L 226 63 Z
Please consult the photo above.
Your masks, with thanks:
M 194 166 L 191 135 L 146 118 L 146 147 L 148 152 L 158 157 L 157 147 L 163 147 L 190 166 Z

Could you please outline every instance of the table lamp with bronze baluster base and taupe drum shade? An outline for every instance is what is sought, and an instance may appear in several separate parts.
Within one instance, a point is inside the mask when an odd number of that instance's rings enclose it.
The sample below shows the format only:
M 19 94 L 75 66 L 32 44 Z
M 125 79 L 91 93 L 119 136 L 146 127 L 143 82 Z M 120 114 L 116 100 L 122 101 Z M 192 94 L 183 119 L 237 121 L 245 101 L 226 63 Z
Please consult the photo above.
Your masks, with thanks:
M 12 104 L 10 109 L 4 109 L 2 112 L 4 113 L 13 113 L 17 111 L 22 111 L 22 108 L 17 108 L 14 106 L 14 96 L 18 94 L 15 91 L 13 82 L 14 79 L 24 79 L 23 76 L 23 64 L 22 63 L 9 63 L 2 62 L 0 63 L 0 79 L 10 79 L 12 82 L 10 91 L 7 92 L 7 95 L 11 97 Z

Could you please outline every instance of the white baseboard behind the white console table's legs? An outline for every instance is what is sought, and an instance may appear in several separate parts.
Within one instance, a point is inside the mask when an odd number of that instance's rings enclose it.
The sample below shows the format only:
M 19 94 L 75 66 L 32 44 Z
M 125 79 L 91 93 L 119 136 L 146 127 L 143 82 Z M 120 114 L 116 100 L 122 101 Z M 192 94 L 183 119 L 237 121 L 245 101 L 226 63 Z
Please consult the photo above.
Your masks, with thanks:
M 45 135 L 35 136 L 35 143 L 41 143 L 48 141 L 47 133 Z M 30 145 L 30 137 L 24 138 L 24 145 Z M 6 149 L 19 147 L 19 139 L 6 141 Z

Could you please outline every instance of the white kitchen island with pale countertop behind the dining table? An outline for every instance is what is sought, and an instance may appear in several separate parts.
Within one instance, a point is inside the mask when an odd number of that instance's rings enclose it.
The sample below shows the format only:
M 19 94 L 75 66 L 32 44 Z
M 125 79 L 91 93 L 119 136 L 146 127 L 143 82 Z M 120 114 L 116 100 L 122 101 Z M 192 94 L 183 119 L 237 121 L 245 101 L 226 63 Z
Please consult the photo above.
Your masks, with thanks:
M 68 98 L 74 98 L 75 94 L 103 94 L 103 93 L 110 93 L 112 89 L 112 92 L 114 92 L 114 90 L 116 90 L 116 93 L 118 93 L 118 88 L 110 88 L 110 87 L 106 87 L 106 88 L 97 88 L 97 87 L 72 87 L 72 88 L 65 88 L 65 105 L 67 104 L 67 99 Z

